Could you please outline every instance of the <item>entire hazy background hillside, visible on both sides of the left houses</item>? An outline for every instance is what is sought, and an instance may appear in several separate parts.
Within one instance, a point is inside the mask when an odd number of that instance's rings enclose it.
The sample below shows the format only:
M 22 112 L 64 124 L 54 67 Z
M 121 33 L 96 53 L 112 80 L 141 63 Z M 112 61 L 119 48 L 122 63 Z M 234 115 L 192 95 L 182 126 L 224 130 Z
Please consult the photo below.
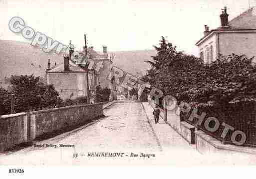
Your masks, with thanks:
M 145 60 L 151 60 L 155 50 L 116 51 L 113 65 L 118 66 L 135 76 L 141 77 L 150 68 Z M 63 63 L 63 56 L 45 53 L 39 47 L 26 42 L 0 40 L 0 78 L 10 75 L 44 76 L 48 59 L 51 66 Z

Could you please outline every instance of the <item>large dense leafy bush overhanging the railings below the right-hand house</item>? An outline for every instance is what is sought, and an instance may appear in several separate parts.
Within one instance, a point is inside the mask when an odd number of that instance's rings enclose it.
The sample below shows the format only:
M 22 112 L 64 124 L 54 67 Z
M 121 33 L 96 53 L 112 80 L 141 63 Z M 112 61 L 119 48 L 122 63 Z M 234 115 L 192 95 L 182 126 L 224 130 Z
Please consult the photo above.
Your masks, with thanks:
M 220 56 L 211 65 L 204 65 L 201 76 L 191 89 L 181 93 L 183 100 L 195 107 L 221 107 L 256 104 L 256 67 L 253 58 L 235 54 Z

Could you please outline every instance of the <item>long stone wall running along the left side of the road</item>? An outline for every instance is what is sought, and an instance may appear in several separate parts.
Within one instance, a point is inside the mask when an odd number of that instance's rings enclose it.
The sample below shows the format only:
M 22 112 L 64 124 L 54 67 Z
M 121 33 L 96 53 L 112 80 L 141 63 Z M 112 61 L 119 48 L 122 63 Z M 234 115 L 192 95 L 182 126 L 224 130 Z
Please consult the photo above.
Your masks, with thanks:
M 36 137 L 103 116 L 103 103 L 0 116 L 0 152 Z

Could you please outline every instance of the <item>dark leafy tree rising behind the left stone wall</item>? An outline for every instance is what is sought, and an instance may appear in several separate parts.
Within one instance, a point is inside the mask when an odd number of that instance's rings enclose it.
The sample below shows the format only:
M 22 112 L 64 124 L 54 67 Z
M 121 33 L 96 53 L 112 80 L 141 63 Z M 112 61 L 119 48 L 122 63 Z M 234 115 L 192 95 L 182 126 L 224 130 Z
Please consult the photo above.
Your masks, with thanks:
M 34 75 L 11 76 L 12 93 L 15 95 L 14 111 L 25 112 L 58 107 L 62 100 L 53 85 L 39 82 Z

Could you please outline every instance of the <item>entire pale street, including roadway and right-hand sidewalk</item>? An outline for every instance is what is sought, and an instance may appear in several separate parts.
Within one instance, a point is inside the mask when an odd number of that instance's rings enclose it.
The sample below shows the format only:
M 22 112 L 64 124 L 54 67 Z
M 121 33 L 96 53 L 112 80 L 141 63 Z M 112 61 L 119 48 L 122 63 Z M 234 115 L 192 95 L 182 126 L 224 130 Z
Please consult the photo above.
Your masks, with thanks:
M 31 147 L 0 155 L 0 165 L 251 164 L 249 157 L 201 155 L 144 103 L 119 101 L 106 117 Z M 150 123 L 149 123 L 150 121 Z M 238 157 L 238 156 L 237 156 Z M 245 159 L 245 160 L 244 160 Z M 237 162 L 235 162 L 237 161 Z

